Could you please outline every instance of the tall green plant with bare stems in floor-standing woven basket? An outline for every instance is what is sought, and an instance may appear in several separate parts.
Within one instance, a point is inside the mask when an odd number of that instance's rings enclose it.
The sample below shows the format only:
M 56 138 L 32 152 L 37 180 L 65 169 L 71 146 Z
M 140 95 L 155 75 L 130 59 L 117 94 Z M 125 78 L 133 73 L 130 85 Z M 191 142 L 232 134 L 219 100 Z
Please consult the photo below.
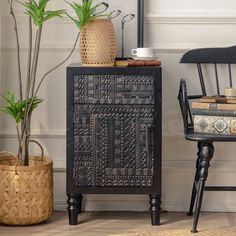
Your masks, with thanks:
M 8 0 L 17 44 L 18 91 L 8 90 L 1 96 L 5 101 L 1 111 L 7 113 L 15 121 L 18 152 L 16 155 L 1 152 L 0 223 L 29 225 L 47 220 L 53 209 L 52 161 L 44 157 L 40 143 L 31 138 L 30 127 L 33 111 L 43 101 L 37 97 L 37 94 L 47 75 L 69 59 L 78 41 L 79 33 L 68 57 L 38 78 L 37 69 L 43 25 L 54 17 L 63 17 L 66 12 L 65 10 L 48 10 L 50 0 L 17 2 L 24 7 L 29 18 L 28 63 L 27 73 L 24 75 L 18 22 L 14 12 L 15 0 Z M 30 156 L 30 143 L 37 144 L 41 148 L 41 157 Z

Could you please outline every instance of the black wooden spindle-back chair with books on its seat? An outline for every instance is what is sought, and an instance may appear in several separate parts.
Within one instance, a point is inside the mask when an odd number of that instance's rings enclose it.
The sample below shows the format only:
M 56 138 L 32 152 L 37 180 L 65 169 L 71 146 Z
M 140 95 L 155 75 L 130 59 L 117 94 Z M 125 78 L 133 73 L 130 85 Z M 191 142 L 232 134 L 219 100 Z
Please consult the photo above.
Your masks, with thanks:
M 194 220 L 192 232 L 197 232 L 197 224 L 199 219 L 199 213 L 201 210 L 203 192 L 205 191 L 236 191 L 234 186 L 205 186 L 205 182 L 208 176 L 208 168 L 210 167 L 210 161 L 214 155 L 214 142 L 235 142 L 236 136 L 233 135 L 219 135 L 219 134 L 200 134 L 194 133 L 194 123 L 191 115 L 190 100 L 198 99 L 202 96 L 221 96 L 224 92 L 225 87 L 233 87 L 232 81 L 232 64 L 236 64 L 236 46 L 227 48 L 203 48 L 194 49 L 186 52 L 180 60 L 180 63 L 194 63 L 197 66 L 199 84 L 201 94 L 188 94 L 186 81 L 181 79 L 178 100 L 181 108 L 181 113 L 184 123 L 184 135 L 187 140 L 197 142 L 198 152 L 196 161 L 196 174 L 192 188 L 192 197 L 190 202 L 190 208 L 188 215 L 193 215 Z M 225 65 L 223 65 L 225 64 Z M 203 67 L 213 67 L 213 78 L 206 77 L 206 73 Z M 227 76 L 224 76 L 224 80 L 227 79 L 225 86 L 225 81 L 219 78 L 219 68 L 225 70 L 227 69 Z M 211 81 L 209 81 L 211 80 Z M 210 83 L 211 82 L 211 83 Z M 211 84 L 214 82 L 216 91 L 214 94 L 209 94 L 209 88 L 206 84 Z M 224 87 L 222 87 L 224 84 Z M 234 84 L 236 86 L 236 83 Z M 214 87 L 214 86 L 211 86 Z M 222 88 L 221 88 L 222 87 Z M 212 90 L 212 88 L 211 88 Z

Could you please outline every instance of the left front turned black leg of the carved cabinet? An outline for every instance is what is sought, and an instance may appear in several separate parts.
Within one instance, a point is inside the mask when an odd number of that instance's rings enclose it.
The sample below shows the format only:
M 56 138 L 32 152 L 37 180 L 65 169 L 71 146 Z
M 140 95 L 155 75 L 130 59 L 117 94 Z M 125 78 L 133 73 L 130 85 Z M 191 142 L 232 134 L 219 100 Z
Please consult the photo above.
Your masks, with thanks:
M 67 210 L 69 215 L 69 224 L 77 225 L 78 224 L 78 213 L 81 212 L 81 194 L 67 194 Z

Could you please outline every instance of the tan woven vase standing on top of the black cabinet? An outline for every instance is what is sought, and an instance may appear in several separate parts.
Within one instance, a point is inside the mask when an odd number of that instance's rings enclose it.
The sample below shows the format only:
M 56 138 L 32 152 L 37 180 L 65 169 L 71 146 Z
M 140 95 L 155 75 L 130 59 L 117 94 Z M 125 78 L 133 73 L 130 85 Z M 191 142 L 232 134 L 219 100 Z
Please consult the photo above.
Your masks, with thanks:
M 114 66 L 116 38 L 110 20 L 97 19 L 82 28 L 80 57 L 83 66 Z

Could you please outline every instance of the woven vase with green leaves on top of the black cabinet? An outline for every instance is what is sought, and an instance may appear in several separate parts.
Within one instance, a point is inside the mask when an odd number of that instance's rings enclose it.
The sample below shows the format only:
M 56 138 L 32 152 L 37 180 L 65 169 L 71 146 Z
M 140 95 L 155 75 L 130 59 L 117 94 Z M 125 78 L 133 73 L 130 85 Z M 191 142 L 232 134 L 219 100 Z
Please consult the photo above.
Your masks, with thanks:
M 107 17 L 101 18 L 109 5 L 100 2 L 93 6 L 93 0 L 82 3 L 68 3 L 76 18 L 68 15 L 78 26 L 80 34 L 80 59 L 83 66 L 114 66 L 116 39 L 113 24 Z M 98 11 L 98 8 L 104 9 Z

